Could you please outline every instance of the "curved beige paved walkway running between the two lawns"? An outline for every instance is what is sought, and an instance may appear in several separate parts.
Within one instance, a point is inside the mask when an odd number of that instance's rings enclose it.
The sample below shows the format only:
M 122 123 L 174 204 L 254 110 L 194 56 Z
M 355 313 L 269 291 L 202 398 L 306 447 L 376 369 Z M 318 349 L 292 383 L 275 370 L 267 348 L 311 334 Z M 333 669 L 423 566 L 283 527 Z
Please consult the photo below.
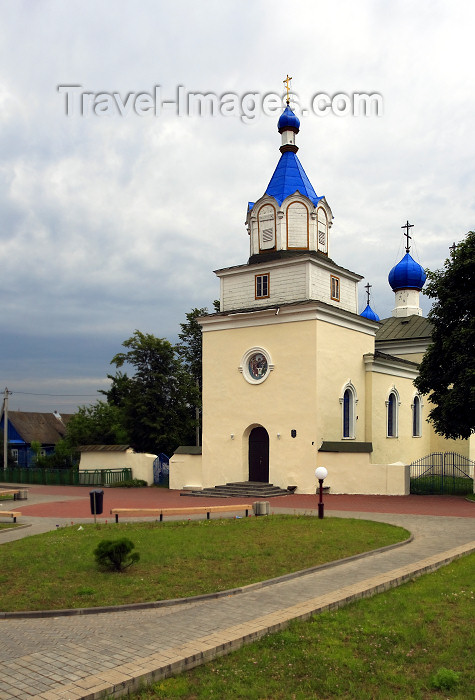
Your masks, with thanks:
M 48 501 L 43 491 L 43 503 L 51 503 L 54 510 L 54 503 L 64 502 L 66 495 Z M 291 498 L 293 507 L 287 510 L 307 510 L 305 503 Z M 354 497 L 359 506 L 361 498 Z M 34 499 L 32 491 L 28 508 L 35 507 Z M 286 505 L 283 500 L 273 499 L 276 512 Z M 249 586 L 232 596 L 92 615 L 3 619 L 0 700 L 119 696 L 143 682 L 232 651 L 281 629 L 290 620 L 306 619 L 315 612 L 386 590 L 475 551 L 475 506 L 468 504 L 466 509 L 460 499 L 456 500 L 462 515 L 445 516 L 331 510 L 329 500 L 327 515 L 402 525 L 414 539 L 401 547 L 272 585 Z M 371 508 L 371 500 L 368 503 Z M 452 508 L 457 509 L 455 503 Z M 23 519 L 32 524 L 30 532 L 58 524 L 51 510 L 42 518 L 27 516 L 27 507 L 20 510 L 25 513 Z M 19 530 L 16 536 L 26 532 Z M 0 541 L 12 534 L 0 533 Z

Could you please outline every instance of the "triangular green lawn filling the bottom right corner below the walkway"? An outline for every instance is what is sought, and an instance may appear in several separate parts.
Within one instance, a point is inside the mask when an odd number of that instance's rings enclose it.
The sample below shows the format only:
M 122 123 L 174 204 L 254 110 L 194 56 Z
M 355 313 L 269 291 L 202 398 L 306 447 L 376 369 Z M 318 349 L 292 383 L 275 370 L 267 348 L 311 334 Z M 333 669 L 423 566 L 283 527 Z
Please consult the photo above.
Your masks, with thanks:
M 475 555 L 293 623 L 133 698 L 467 700 L 475 688 Z

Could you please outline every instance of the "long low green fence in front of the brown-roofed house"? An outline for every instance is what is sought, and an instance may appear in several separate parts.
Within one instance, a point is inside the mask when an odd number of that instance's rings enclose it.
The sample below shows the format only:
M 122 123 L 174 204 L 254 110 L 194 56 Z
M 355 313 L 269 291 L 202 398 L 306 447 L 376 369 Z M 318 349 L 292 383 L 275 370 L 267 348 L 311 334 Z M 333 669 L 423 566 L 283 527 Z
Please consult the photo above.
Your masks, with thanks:
M 0 469 L 0 481 L 8 484 L 45 486 L 113 486 L 132 478 L 132 469 Z

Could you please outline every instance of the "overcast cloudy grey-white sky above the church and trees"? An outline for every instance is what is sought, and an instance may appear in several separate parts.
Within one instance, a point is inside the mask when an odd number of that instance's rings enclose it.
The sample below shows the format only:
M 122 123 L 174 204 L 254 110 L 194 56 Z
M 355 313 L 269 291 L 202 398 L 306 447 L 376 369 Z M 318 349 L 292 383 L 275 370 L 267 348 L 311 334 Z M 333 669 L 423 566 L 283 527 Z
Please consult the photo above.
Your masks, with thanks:
M 287 74 L 304 107 L 316 94 L 381 95 L 379 116 L 309 110 L 297 144 L 333 210 L 332 259 L 365 277 L 360 311 L 370 282 L 373 309 L 389 316 L 406 220 L 413 257 L 431 269 L 474 227 L 474 20 L 469 0 L 1 3 L 10 410 L 94 402 L 135 329 L 174 342 L 185 313 L 219 296 L 213 270 L 247 262 L 247 203 L 280 157 L 280 110 L 200 117 L 135 102 L 158 85 L 163 101 L 182 86 L 219 105 L 225 93 L 281 95 Z M 67 109 L 58 86 L 70 85 L 75 99 L 92 94 L 89 116 Z M 99 93 L 132 101 L 121 115 Z

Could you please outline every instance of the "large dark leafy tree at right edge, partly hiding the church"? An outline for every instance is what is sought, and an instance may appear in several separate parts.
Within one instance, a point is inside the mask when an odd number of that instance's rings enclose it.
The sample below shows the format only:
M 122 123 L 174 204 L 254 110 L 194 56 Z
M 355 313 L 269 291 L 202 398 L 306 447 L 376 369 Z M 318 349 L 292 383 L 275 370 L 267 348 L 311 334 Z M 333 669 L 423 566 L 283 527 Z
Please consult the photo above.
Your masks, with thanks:
M 428 278 L 424 293 L 435 299 L 428 314 L 434 329 L 414 384 L 429 394 L 435 431 L 467 439 L 475 430 L 475 232 Z

